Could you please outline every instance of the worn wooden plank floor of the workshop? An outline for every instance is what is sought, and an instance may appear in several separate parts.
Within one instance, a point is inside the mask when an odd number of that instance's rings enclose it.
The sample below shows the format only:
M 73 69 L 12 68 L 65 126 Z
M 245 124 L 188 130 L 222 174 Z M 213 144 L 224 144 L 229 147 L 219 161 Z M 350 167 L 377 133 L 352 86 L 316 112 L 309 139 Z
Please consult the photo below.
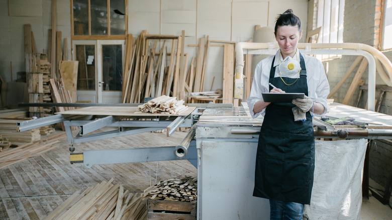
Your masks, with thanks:
M 58 131 L 56 131 L 57 133 Z M 186 133 L 142 133 L 75 145 L 76 152 L 97 149 L 175 146 Z M 45 138 L 45 136 L 43 136 Z M 140 193 L 158 179 L 179 175 L 197 176 L 188 161 L 160 161 L 94 165 L 69 163 L 69 145 L 64 138 L 59 146 L 41 156 L 0 169 L 0 219 L 43 219 L 76 190 L 83 190 L 114 178 L 133 193 Z M 392 219 L 392 209 L 374 197 L 363 201 L 362 220 Z

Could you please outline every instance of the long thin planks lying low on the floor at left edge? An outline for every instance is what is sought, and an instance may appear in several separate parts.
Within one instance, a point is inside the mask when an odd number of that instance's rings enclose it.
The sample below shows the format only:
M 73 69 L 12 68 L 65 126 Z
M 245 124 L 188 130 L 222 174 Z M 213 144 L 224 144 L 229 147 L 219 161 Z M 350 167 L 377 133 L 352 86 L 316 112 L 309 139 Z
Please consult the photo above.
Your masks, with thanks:
M 2 151 L 0 152 L 0 169 L 25 159 L 39 156 L 40 154 L 57 147 L 58 145 L 56 145 L 56 143 L 60 142 L 59 139 L 62 138 L 65 138 L 65 133 L 60 133 L 35 143 L 31 142 Z

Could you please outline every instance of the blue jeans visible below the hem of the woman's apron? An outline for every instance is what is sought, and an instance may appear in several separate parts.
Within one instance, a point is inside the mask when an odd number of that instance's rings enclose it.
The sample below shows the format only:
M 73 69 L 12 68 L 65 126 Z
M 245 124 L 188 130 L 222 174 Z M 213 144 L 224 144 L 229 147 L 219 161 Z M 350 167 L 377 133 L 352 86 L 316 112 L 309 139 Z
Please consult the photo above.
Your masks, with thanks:
M 302 220 L 304 204 L 269 200 L 271 220 Z

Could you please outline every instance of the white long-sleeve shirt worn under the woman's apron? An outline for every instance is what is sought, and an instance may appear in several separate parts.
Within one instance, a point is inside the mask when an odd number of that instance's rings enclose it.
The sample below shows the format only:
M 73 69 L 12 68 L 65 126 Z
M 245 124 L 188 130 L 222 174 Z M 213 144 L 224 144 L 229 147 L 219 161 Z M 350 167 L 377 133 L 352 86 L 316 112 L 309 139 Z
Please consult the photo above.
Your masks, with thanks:
M 299 51 L 297 49 L 297 53 Z M 329 83 L 327 76 L 324 71 L 323 64 L 320 60 L 315 57 L 311 57 L 306 54 L 302 54 L 305 61 L 306 73 L 307 73 L 307 81 L 308 81 L 308 96 L 314 101 L 319 102 L 324 105 L 324 113 L 327 113 L 327 96 L 329 94 Z M 254 71 L 254 77 L 252 82 L 252 87 L 250 90 L 249 97 L 246 99 L 246 102 L 249 106 L 250 115 L 252 118 L 256 118 L 259 115 L 264 116 L 265 108 L 259 112 L 253 113 L 254 104 L 263 100 L 261 95 L 262 92 L 269 92 L 269 72 L 271 70 L 272 59 L 275 57 L 275 61 L 273 66 L 275 67 L 275 77 L 279 77 L 279 60 L 282 62 L 282 58 L 280 57 L 280 50 L 276 52 L 275 55 L 269 56 L 263 60 L 261 60 Z M 300 57 L 298 56 L 298 59 Z M 298 78 L 298 75 L 292 76 L 291 78 Z

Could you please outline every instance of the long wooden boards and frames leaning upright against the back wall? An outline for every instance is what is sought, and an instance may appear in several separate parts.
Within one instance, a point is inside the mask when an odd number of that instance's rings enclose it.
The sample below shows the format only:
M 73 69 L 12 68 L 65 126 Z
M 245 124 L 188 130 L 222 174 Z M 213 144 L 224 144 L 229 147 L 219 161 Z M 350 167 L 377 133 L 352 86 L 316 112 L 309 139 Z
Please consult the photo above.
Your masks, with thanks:
M 129 34 L 125 49 L 123 103 L 140 103 L 145 97 L 160 95 L 171 95 L 185 100 L 185 92 L 204 90 L 209 47 L 231 45 L 232 50 L 225 50 L 225 56 L 231 59 L 226 60 L 234 60 L 235 57 L 235 42 L 213 41 L 209 40 L 208 36 L 200 38 L 198 45 L 188 45 L 197 47 L 197 54 L 192 58 L 188 58 L 188 54 L 184 53 L 184 42 L 184 31 L 181 36 L 150 35 L 146 30 L 137 38 Z M 189 65 L 188 59 L 191 59 Z M 227 73 L 224 77 L 226 83 L 230 84 L 228 75 L 234 72 L 234 61 L 226 62 L 225 66 Z M 234 84 L 227 87 L 233 90 Z M 189 101 L 190 99 L 187 100 Z

